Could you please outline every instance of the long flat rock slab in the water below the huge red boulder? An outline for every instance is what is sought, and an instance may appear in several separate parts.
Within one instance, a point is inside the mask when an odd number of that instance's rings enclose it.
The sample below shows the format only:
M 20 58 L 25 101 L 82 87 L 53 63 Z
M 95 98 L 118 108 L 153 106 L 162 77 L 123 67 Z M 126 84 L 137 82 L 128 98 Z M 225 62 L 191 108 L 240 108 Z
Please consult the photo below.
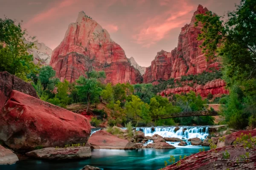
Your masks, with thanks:
M 84 159 L 91 157 L 91 149 L 90 147 L 68 147 L 58 149 L 47 147 L 39 150 L 32 150 L 26 153 L 26 156 L 49 160 Z

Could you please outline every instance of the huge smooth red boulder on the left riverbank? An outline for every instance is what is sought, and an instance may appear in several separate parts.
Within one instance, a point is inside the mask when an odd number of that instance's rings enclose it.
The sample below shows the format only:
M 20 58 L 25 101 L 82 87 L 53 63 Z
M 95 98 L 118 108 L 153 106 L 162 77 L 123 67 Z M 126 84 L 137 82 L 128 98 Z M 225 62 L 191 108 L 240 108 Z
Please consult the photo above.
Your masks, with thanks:
M 13 150 L 86 143 L 90 122 L 79 114 L 12 90 L 0 111 L 0 139 Z

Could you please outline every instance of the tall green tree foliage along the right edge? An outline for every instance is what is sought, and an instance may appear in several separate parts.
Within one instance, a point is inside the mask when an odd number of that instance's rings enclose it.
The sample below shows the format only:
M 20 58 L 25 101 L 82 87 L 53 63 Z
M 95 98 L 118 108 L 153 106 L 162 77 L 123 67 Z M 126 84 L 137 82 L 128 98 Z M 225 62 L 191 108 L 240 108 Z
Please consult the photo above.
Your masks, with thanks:
M 196 16 L 204 24 L 198 40 L 208 59 L 215 54 L 224 65 L 223 78 L 229 86 L 230 96 L 222 108 L 225 122 L 230 127 L 243 129 L 256 108 L 256 13 L 255 0 L 241 0 L 234 11 L 227 12 L 227 22 L 211 11 Z M 196 25 L 198 23 L 195 23 Z

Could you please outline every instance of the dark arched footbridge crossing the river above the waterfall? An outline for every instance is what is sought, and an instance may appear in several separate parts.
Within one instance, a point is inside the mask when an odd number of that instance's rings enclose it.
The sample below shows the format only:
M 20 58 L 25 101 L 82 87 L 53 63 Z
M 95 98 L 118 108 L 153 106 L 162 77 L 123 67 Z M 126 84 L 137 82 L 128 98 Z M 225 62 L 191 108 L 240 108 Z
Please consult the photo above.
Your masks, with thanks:
M 162 114 L 162 115 L 152 116 L 152 120 L 169 119 L 169 118 L 175 118 L 175 117 L 188 117 L 188 116 L 218 116 L 218 111 L 193 111 L 193 112 Z

